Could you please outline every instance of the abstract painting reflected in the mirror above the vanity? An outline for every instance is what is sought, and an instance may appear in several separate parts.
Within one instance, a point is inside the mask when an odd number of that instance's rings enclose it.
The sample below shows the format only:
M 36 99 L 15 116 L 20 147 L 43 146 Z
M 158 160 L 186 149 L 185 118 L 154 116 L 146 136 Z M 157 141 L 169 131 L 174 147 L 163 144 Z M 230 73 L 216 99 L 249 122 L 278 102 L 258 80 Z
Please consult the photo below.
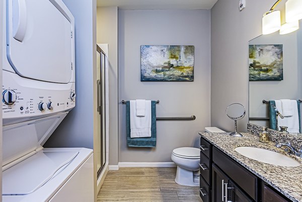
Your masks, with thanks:
M 249 80 L 283 80 L 283 45 L 249 45 Z

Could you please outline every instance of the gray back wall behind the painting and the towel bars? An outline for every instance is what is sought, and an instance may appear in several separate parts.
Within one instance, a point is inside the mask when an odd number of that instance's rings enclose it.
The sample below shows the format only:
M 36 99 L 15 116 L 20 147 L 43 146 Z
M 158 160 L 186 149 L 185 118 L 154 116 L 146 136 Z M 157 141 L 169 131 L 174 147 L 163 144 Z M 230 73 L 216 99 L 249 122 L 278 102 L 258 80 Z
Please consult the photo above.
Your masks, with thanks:
M 210 125 L 210 11 L 120 10 L 119 162 L 171 162 L 178 147 L 199 144 Z M 194 45 L 194 82 L 140 82 L 140 45 Z M 157 121 L 154 149 L 128 148 L 121 100 L 160 100 L 157 116 L 191 116 L 194 121 Z

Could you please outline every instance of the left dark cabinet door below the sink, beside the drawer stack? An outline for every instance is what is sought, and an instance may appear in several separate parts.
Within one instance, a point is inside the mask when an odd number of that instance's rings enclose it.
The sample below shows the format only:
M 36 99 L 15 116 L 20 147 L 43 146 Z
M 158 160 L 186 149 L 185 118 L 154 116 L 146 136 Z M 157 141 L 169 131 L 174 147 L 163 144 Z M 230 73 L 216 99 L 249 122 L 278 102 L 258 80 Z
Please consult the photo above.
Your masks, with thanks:
M 212 165 L 212 202 L 228 202 L 228 181 L 217 167 Z

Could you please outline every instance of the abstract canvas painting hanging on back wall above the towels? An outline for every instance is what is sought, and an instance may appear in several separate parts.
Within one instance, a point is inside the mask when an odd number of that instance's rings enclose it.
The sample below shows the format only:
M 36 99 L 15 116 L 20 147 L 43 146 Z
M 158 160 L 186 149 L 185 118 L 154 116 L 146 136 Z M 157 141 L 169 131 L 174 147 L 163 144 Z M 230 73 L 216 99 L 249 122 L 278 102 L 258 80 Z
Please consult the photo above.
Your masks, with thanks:
M 193 81 L 194 46 L 140 46 L 140 81 Z

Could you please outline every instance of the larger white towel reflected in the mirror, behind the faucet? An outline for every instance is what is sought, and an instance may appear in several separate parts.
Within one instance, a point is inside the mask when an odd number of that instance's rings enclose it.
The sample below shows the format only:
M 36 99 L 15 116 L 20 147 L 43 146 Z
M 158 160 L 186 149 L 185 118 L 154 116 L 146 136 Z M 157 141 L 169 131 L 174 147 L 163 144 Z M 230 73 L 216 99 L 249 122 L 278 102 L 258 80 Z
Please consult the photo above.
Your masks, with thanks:
M 296 100 L 290 100 L 292 105 L 292 116 L 285 116 L 284 118 L 280 118 L 278 116 L 278 127 L 279 126 L 287 126 L 288 132 L 299 132 L 299 115 L 298 115 L 298 105 Z M 280 100 L 275 100 L 276 108 L 283 115 L 282 104 Z M 278 128 L 280 129 L 280 128 Z

